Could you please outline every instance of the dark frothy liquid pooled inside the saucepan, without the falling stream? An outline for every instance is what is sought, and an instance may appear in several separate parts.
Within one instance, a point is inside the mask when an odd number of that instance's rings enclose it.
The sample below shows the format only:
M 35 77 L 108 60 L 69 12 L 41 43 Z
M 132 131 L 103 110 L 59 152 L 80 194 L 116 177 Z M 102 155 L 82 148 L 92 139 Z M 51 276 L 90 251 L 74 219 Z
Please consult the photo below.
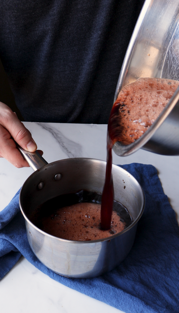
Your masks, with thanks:
M 126 208 L 114 201 L 108 230 L 100 228 L 101 194 L 81 190 L 46 201 L 36 209 L 32 222 L 55 237 L 89 241 L 123 231 L 132 223 Z

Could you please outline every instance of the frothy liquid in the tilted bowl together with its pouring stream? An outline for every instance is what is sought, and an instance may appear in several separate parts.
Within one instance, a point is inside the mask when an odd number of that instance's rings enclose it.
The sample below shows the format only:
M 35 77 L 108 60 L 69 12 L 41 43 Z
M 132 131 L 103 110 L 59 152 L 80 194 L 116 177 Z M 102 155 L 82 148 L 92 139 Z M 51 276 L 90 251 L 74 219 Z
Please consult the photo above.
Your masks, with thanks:
M 107 134 L 106 179 L 101 203 L 101 229 L 110 228 L 113 210 L 112 147 L 116 141 L 128 145 L 156 120 L 179 86 L 176 80 L 139 78 L 124 86 L 115 101 Z

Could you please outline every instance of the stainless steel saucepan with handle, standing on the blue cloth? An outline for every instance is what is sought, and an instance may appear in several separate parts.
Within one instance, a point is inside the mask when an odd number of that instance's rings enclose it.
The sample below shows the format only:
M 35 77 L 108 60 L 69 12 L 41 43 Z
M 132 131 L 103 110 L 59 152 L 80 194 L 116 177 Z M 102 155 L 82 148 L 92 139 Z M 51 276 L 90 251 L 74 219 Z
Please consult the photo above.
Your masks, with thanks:
M 40 204 L 61 194 L 82 189 L 102 193 L 106 162 L 72 158 L 48 164 L 38 152 L 19 148 L 35 170 L 21 188 L 19 203 L 25 218 L 27 237 L 37 258 L 54 272 L 73 278 L 95 277 L 120 264 L 134 243 L 145 197 L 140 184 L 124 169 L 113 165 L 115 200 L 122 203 L 133 223 L 119 234 L 94 241 L 71 241 L 51 236 L 31 221 Z M 125 189 L 124 189 L 125 182 Z

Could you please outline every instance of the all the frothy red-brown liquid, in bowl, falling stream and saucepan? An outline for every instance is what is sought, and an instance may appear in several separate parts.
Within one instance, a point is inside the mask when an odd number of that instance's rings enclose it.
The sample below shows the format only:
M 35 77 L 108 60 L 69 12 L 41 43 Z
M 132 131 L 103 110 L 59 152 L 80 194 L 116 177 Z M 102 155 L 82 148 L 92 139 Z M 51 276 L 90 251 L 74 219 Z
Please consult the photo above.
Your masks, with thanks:
M 37 208 L 32 222 L 56 237 L 82 241 L 107 238 L 128 227 L 132 223 L 128 211 L 113 201 L 113 144 L 130 144 L 138 139 L 162 112 L 178 85 L 174 80 L 140 78 L 125 86 L 108 121 L 103 195 L 80 191 L 58 196 Z

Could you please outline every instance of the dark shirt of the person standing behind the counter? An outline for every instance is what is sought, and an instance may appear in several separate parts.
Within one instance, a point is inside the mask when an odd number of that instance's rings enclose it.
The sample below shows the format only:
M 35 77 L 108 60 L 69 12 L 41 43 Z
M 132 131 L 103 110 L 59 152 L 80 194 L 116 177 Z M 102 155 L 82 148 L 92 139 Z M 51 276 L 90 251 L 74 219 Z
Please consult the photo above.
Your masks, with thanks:
M 108 123 L 144 0 L 1 0 L 0 58 L 25 121 Z

